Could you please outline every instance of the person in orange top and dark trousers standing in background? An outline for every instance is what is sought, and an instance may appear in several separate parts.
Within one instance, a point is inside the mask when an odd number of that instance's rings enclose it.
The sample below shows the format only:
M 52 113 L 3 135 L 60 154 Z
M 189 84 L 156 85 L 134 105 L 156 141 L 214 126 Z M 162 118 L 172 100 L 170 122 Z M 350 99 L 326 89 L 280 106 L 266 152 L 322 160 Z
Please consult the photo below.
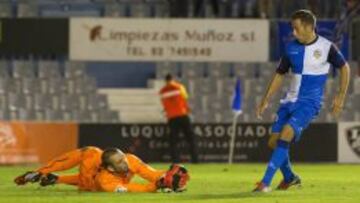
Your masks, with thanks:
M 170 153 L 172 161 L 174 163 L 180 162 L 177 144 L 180 133 L 183 133 L 190 144 L 191 161 L 197 163 L 197 142 L 188 116 L 190 112 L 187 103 L 188 94 L 184 86 L 175 81 L 171 74 L 165 76 L 165 83 L 165 86 L 160 90 L 160 97 L 170 127 Z

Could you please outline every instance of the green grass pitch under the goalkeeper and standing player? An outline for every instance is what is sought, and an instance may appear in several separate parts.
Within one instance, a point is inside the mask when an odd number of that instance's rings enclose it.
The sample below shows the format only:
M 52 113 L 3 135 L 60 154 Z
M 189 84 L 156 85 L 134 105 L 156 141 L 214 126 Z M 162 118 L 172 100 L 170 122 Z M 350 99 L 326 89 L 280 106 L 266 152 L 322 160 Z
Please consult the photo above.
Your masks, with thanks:
M 153 164 L 167 168 L 166 164 Z M 0 167 L 0 203 L 145 203 L 145 202 L 360 202 L 360 165 L 294 164 L 302 177 L 301 188 L 253 194 L 254 183 L 263 175 L 265 164 L 188 164 L 191 180 L 184 193 L 115 194 L 78 192 L 65 185 L 41 188 L 37 184 L 17 187 L 12 180 L 31 167 Z M 273 188 L 280 181 L 277 174 Z M 136 179 L 135 181 L 140 181 Z

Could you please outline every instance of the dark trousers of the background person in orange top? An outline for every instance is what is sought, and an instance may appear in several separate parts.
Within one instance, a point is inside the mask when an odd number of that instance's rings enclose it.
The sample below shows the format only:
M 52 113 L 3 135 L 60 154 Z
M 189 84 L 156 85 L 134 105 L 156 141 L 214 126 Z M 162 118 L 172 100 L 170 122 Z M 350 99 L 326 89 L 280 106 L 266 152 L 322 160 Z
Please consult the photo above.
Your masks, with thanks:
M 168 121 L 170 127 L 170 153 L 174 163 L 180 162 L 180 152 L 177 144 L 180 140 L 180 134 L 183 133 L 186 141 L 189 143 L 191 162 L 198 162 L 198 150 L 195 134 L 193 133 L 189 116 L 180 116 L 171 118 Z

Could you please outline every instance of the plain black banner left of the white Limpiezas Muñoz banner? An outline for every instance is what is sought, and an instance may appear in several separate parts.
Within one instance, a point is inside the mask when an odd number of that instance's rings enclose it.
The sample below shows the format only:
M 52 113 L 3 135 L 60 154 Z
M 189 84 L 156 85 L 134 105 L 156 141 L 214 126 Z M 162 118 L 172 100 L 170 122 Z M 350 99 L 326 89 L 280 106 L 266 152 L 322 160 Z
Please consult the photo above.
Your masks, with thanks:
M 69 20 L 0 19 L 0 54 L 68 54 Z

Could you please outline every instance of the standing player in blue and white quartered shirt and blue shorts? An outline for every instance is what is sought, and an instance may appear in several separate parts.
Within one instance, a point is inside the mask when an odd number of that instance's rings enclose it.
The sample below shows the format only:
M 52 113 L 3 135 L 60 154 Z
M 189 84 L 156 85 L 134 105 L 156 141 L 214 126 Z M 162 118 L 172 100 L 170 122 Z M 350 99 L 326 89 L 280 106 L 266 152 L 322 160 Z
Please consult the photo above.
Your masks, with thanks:
M 315 32 L 316 18 L 309 10 L 298 10 L 291 16 L 293 35 L 265 96 L 256 110 L 256 115 L 267 108 L 271 96 L 279 89 L 284 74 L 291 74 L 291 85 L 277 112 L 272 126 L 269 146 L 273 149 L 271 159 L 262 180 L 254 192 L 269 192 L 271 181 L 278 169 L 284 179 L 277 186 L 286 190 L 300 185 L 301 180 L 290 165 L 289 145 L 298 141 L 302 131 L 319 113 L 324 86 L 330 66 L 340 71 L 340 88 L 333 100 L 332 114 L 338 117 L 346 97 L 349 84 L 349 65 L 337 47 Z

